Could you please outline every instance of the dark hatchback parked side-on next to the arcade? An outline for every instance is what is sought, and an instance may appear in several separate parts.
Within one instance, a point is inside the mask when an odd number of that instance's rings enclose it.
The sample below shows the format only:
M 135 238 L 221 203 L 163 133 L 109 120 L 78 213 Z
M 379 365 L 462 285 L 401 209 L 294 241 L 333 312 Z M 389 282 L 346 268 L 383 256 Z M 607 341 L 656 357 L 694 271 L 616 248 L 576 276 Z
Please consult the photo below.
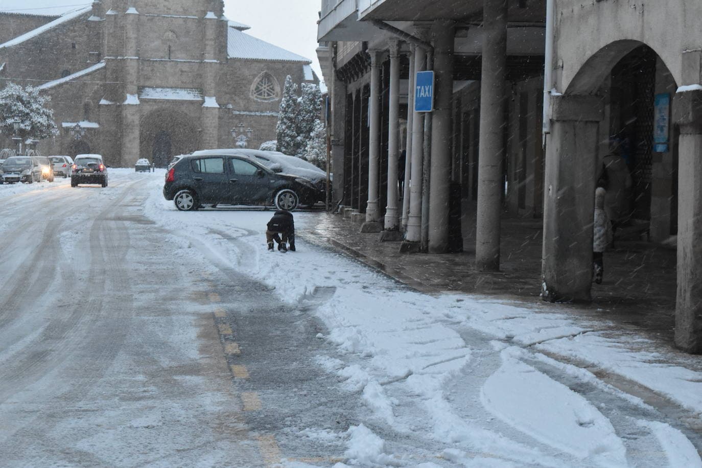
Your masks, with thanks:
M 294 210 L 314 203 L 317 189 L 310 180 L 276 173 L 237 149 L 208 149 L 183 156 L 168 170 L 164 196 L 179 210 L 204 204 Z

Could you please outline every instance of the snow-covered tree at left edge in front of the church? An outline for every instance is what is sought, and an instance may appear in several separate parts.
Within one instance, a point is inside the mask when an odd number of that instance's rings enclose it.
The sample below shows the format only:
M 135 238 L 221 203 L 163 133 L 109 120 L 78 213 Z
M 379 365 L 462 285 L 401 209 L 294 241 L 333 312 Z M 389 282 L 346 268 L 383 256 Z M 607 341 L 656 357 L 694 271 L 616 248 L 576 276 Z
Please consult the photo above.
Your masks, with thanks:
M 51 138 L 58 134 L 53 109 L 46 107 L 51 98 L 40 95 L 38 88 L 22 88 L 15 83 L 0 91 L 0 133 L 8 137 Z M 19 123 L 15 131 L 15 123 Z

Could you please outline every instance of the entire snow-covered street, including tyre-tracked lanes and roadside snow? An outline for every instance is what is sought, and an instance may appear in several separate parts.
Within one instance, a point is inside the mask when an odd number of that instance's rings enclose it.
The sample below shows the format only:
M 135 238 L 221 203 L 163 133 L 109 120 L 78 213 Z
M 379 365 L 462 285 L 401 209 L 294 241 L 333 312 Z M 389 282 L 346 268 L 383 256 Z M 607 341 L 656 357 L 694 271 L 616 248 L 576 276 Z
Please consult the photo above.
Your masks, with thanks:
M 699 361 L 409 290 L 163 173 L 0 186 L 0 466 L 702 467 Z M 574 366 L 576 363 L 578 366 Z

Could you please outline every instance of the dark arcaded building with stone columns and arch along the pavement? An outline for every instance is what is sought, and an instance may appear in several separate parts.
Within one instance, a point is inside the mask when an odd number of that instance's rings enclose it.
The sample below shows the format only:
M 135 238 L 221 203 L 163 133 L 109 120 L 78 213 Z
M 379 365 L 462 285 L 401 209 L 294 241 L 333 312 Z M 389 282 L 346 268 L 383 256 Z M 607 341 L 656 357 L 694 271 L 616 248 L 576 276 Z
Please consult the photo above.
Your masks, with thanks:
M 501 269 L 505 217 L 541 220 L 534 289 L 589 302 L 595 187 L 623 161 L 615 239 L 677 243 L 675 344 L 702 352 L 702 5 L 641 8 L 323 0 L 333 199 L 378 242 L 477 272 Z M 432 112 L 413 112 L 422 70 Z

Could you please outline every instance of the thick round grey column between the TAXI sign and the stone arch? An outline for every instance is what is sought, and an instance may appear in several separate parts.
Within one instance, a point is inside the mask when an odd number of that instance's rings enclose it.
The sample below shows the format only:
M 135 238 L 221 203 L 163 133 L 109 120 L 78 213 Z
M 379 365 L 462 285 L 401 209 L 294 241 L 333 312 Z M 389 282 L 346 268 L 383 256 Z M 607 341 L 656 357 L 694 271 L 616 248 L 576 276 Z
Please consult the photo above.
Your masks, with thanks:
M 500 269 L 506 76 L 507 0 L 484 0 L 475 267 L 487 272 Z

